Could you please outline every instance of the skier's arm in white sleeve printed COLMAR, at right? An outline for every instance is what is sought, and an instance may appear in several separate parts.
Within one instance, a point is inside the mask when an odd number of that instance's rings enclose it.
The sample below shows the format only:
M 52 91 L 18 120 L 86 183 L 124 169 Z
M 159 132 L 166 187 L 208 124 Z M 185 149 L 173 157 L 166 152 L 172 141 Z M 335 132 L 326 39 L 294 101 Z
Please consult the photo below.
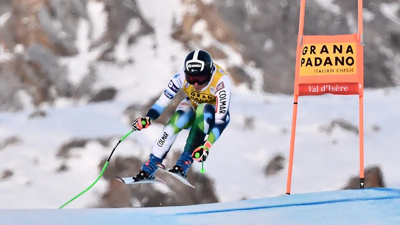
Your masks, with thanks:
M 226 121 L 230 103 L 230 79 L 227 75 L 221 76 L 215 87 L 215 124 Z

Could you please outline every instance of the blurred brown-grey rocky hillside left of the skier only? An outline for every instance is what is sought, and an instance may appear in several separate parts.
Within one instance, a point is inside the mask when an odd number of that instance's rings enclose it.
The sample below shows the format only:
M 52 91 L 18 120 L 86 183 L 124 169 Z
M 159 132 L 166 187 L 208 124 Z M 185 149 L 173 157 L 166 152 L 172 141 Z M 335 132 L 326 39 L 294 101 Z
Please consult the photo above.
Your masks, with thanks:
M 21 93 L 27 94 L 34 105 L 51 103 L 57 97 L 80 99 L 95 96 L 92 84 L 96 78 L 95 61 L 115 61 L 112 52 L 130 19 L 137 19 L 141 29 L 129 36 L 133 44 L 136 37 L 152 32 L 135 1 L 128 5 L 122 1 L 106 1 L 106 32 L 98 35 L 93 29 L 96 11 L 91 14 L 85 0 L 12 0 L 3 4 L 9 11 L 1 16 L 0 43 L 2 48 L 1 108 L 21 109 Z M 8 4 L 6 4 L 8 3 Z M 1 7 L 3 8 L 3 7 Z M 95 8 L 96 9 L 96 8 Z M 87 23 L 90 49 L 80 49 L 75 43 L 78 24 Z M 98 22 L 98 20 L 97 20 Z M 94 52 L 93 48 L 98 48 Z M 72 66 L 82 67 L 81 74 L 70 74 L 63 60 L 82 51 L 91 51 L 88 64 L 77 61 Z M 127 62 L 129 63 L 129 62 Z M 75 80 L 71 76 L 81 76 Z

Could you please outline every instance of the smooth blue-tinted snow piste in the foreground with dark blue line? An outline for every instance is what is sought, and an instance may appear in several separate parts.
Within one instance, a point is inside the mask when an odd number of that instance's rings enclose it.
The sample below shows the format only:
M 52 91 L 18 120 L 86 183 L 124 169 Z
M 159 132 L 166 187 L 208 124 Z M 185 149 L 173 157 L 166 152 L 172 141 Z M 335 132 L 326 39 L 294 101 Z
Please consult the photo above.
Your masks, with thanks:
M 0 210 L 3 224 L 398 224 L 400 189 L 292 194 L 156 208 Z

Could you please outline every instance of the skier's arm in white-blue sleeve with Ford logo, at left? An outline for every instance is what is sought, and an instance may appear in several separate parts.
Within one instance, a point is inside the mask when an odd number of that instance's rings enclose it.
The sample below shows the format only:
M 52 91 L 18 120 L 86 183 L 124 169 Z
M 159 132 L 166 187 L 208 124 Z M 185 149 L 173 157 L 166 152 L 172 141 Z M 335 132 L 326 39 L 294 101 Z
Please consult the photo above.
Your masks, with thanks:
M 182 88 L 181 74 L 181 72 L 178 72 L 171 78 L 171 80 L 169 80 L 159 98 L 148 110 L 146 116 L 148 116 L 151 120 L 155 120 L 159 117 L 159 115 L 165 110 L 165 108 L 175 97 L 178 90 Z

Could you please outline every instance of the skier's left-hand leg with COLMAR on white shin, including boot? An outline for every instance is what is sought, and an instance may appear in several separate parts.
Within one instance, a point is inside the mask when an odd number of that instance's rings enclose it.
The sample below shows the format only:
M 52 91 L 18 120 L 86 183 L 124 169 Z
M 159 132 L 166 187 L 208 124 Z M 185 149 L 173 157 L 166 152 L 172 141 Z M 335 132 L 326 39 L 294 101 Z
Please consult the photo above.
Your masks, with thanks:
M 157 167 L 155 162 L 164 160 L 178 133 L 191 125 L 194 119 L 194 108 L 188 98 L 183 99 L 176 107 L 175 113 L 165 124 L 160 135 L 155 139 L 149 159 L 143 163 L 137 178 L 153 177 Z

